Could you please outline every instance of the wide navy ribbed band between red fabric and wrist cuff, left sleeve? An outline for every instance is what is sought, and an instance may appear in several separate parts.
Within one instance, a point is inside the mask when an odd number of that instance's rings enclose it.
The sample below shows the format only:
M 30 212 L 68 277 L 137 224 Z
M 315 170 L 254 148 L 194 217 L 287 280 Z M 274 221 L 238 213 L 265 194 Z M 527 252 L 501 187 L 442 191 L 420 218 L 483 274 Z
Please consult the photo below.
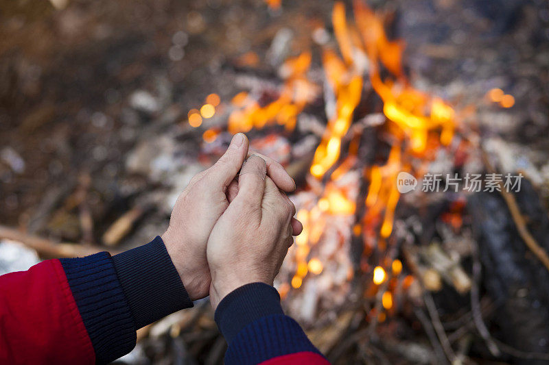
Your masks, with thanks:
M 60 260 L 88 331 L 95 361 L 106 364 L 135 347 L 132 313 L 108 252 Z

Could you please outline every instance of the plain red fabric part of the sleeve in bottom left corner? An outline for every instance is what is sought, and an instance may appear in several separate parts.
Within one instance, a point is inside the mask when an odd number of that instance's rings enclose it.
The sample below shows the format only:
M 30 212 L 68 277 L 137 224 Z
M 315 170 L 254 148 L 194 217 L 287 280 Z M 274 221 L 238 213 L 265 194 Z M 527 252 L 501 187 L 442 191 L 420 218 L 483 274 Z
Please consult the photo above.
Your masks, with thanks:
M 95 363 L 59 260 L 0 276 L 0 363 Z

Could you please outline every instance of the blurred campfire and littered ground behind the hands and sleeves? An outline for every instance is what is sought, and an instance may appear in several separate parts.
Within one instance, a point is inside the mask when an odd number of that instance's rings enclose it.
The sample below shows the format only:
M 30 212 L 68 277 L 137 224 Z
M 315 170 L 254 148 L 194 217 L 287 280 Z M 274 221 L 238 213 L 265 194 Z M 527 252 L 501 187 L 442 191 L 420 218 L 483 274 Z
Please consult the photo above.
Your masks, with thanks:
M 0 273 L 149 242 L 244 131 L 296 180 L 304 232 L 275 286 L 331 362 L 549 363 L 546 1 L 13 0 L 0 18 Z M 524 179 L 421 191 L 425 173 Z M 225 350 L 204 299 L 119 361 Z

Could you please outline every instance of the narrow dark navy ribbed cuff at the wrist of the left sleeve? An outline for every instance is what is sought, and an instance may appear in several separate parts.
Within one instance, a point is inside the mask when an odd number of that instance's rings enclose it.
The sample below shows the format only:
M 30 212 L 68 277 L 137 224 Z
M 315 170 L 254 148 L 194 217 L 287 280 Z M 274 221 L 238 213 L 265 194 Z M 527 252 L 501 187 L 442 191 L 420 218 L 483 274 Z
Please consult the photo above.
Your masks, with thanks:
M 113 262 L 138 329 L 193 306 L 160 236 Z

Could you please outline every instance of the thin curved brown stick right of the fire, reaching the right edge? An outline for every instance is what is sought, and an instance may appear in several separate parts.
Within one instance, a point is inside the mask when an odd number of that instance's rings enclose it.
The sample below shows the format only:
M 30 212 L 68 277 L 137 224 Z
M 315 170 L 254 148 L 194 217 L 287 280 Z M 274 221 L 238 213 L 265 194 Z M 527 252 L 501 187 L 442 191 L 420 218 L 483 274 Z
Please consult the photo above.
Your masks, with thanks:
M 481 151 L 482 160 L 484 160 L 484 164 L 486 165 L 488 171 L 490 171 L 490 173 L 495 173 L 493 166 L 488 160 L 488 155 L 486 151 L 484 151 L 482 147 Z M 500 187 L 500 193 L 502 194 L 505 203 L 509 207 L 509 212 L 511 212 L 511 216 L 513 217 L 513 221 L 517 226 L 517 230 L 519 231 L 519 235 L 521 236 L 522 240 L 524 240 L 524 243 L 526 243 L 528 249 L 530 249 L 530 251 L 532 251 L 532 253 L 539 259 L 539 261 L 544 264 L 547 270 L 549 270 L 549 255 L 547 255 L 546 251 L 541 246 L 539 246 L 535 238 L 532 236 L 532 234 L 530 234 L 530 231 L 528 231 L 528 226 L 526 225 L 526 221 L 524 221 L 524 217 L 520 212 L 520 208 L 517 204 L 515 196 L 504 189 L 502 181 L 498 181 L 498 186 Z

